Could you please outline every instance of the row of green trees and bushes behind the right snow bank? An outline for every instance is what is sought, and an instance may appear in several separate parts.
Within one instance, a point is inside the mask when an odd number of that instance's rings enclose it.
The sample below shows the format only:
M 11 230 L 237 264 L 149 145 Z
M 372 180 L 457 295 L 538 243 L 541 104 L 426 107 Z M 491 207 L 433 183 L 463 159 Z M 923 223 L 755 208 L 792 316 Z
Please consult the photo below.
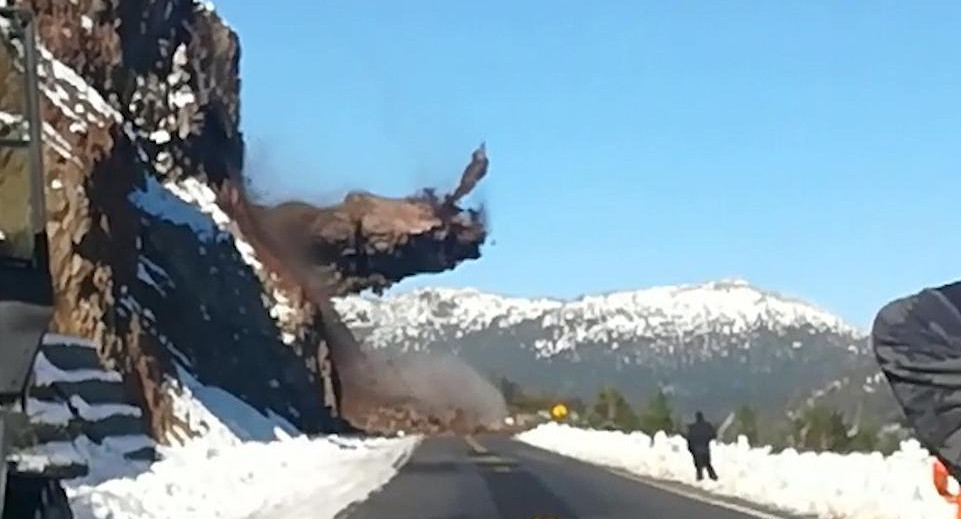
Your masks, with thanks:
M 501 392 L 514 413 L 538 413 L 563 402 L 571 411 L 570 422 L 580 427 L 641 431 L 654 435 L 683 434 L 685 420 L 675 410 L 670 395 L 657 391 L 635 407 L 613 387 L 603 387 L 593 401 L 564 398 L 560 395 L 525 390 L 516 383 L 500 378 Z M 715 417 L 722 441 L 735 442 L 744 436 L 751 445 L 770 445 L 775 450 L 794 448 L 804 451 L 875 452 L 897 450 L 902 435 L 884 430 L 870 419 L 845 418 L 837 409 L 818 404 L 805 407 L 791 416 L 761 416 L 750 404 L 731 410 L 727 416 Z

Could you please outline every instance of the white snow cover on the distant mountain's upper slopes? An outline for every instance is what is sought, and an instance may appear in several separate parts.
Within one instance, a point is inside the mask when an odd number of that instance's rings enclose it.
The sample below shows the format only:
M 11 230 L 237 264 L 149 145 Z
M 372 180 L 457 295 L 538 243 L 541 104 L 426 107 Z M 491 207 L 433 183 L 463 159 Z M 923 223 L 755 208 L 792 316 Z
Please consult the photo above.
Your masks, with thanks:
M 547 330 L 533 345 L 542 356 L 585 343 L 616 348 L 621 343 L 676 341 L 708 333 L 734 335 L 761 328 L 864 336 L 827 311 L 743 280 L 615 292 L 575 301 L 425 288 L 384 298 L 348 296 L 335 304 L 369 346 L 402 345 L 414 350 L 432 341 L 525 322 Z

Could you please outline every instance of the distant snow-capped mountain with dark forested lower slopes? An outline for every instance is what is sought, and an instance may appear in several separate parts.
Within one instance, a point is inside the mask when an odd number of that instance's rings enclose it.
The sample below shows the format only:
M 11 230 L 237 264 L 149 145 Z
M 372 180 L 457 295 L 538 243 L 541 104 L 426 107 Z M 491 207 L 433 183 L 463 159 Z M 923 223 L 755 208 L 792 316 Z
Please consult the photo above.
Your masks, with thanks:
M 607 383 L 634 399 L 663 387 L 685 409 L 783 410 L 870 361 L 863 331 L 743 280 L 574 301 L 425 288 L 337 308 L 369 348 L 451 352 L 492 376 L 584 397 Z

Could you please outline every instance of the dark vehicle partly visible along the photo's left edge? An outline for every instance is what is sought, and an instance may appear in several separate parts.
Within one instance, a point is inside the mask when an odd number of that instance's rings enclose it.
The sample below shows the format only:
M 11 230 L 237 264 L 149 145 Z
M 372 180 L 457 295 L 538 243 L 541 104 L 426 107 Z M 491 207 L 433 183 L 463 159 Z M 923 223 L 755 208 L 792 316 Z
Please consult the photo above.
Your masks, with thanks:
M 33 18 L 0 8 L 0 511 L 4 518 L 68 519 L 59 481 L 7 463 L 29 447 L 27 389 L 53 307 L 45 233 Z

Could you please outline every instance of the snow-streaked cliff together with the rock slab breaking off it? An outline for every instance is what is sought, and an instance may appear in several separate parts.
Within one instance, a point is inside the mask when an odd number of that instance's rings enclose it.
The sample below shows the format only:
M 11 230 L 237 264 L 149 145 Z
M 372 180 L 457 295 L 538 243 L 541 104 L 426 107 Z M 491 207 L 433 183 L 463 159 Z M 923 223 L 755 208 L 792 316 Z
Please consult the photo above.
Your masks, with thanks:
M 336 364 L 356 342 L 327 298 L 478 257 L 480 215 L 462 194 L 254 206 L 238 39 L 206 4 L 11 3 L 43 46 L 55 330 L 99 345 L 157 439 L 187 427 L 180 369 L 305 432 L 342 428 Z M 309 242 L 283 239 L 305 220 Z

